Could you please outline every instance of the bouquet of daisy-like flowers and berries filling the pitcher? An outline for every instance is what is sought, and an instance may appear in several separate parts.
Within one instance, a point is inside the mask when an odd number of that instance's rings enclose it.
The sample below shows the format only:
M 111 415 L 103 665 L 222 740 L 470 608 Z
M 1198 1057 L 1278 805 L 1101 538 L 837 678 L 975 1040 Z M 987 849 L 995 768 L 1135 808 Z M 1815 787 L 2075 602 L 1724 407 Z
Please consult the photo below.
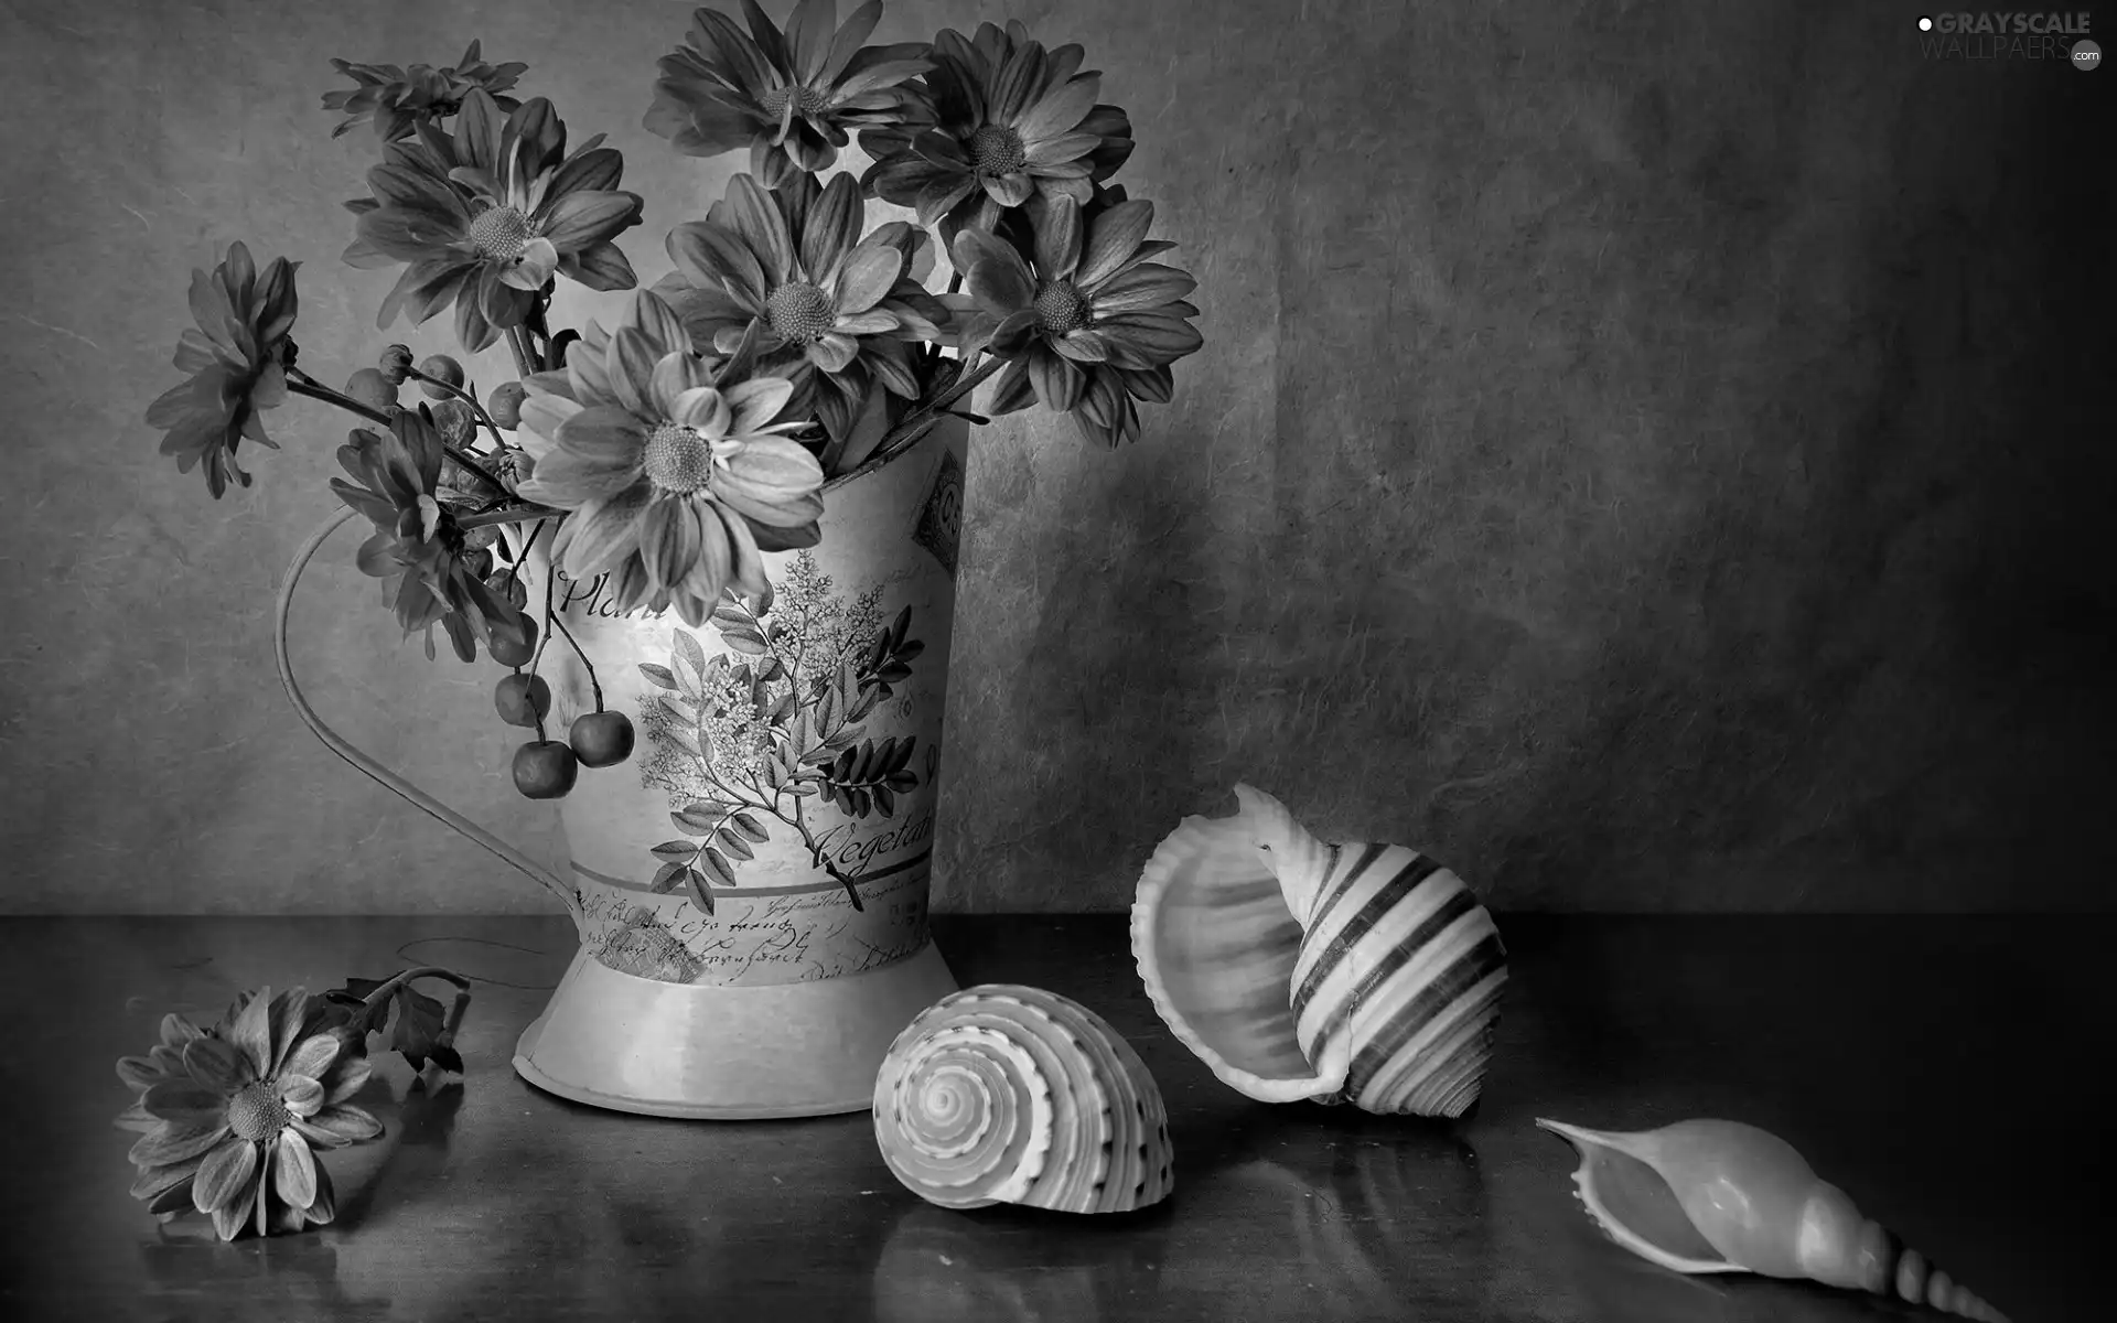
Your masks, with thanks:
M 1037 404 L 1116 447 L 1202 343 L 1196 282 L 1147 237 L 1154 203 L 1111 184 L 1130 121 L 1099 99 L 1082 47 L 1046 49 L 1020 23 L 866 44 L 879 0 L 843 25 L 834 0 L 800 0 L 783 28 L 756 0 L 741 15 L 699 8 L 661 59 L 646 127 L 686 157 L 747 150 L 749 169 L 667 235 L 673 271 L 652 288 L 616 243 L 641 222 L 620 152 L 510 95 L 527 66 L 476 42 L 438 70 L 334 59 L 356 87 L 324 108 L 337 133 L 370 125 L 381 152 L 343 256 L 402 267 L 377 326 L 453 313 L 462 347 L 504 341 L 517 379 L 481 392 L 455 358 L 390 345 L 326 385 L 296 356 L 296 262 L 260 269 L 231 243 L 193 273 L 186 381 L 146 413 L 216 500 L 250 485 L 243 440 L 277 449 L 265 415 L 288 396 L 358 415 L 330 483 L 375 525 L 358 565 L 430 658 L 438 624 L 462 660 L 483 648 L 512 669 L 495 705 L 538 732 L 514 758 L 533 798 L 633 749 L 599 686 L 565 741 L 544 737 L 536 660 L 557 618 L 546 601 L 538 624 L 517 574 L 538 540 L 567 576 L 601 578 L 614 610 L 673 608 L 696 629 L 766 588 L 764 552 L 819 542 L 828 483 L 942 417 Z M 853 133 L 872 161 L 857 178 L 838 169 Z M 876 199 L 917 224 L 870 224 Z M 938 248 L 953 275 L 936 292 Z M 559 279 L 635 294 L 610 328 L 557 328 Z

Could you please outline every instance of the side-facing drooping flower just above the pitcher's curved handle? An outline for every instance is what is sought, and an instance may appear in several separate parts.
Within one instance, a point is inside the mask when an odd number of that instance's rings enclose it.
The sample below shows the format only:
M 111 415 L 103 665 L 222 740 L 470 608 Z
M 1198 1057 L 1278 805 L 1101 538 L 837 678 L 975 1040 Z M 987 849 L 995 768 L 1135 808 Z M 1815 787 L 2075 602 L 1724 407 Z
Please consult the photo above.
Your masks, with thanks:
M 426 631 L 432 658 L 440 624 L 466 663 L 495 635 L 523 641 L 523 614 L 472 569 L 466 533 L 438 495 L 442 442 L 421 413 L 396 411 L 387 434 L 356 428 L 339 464 L 354 483 L 332 478 L 330 489 L 375 525 L 360 546 L 360 572 L 394 580 L 385 593 L 404 637 Z

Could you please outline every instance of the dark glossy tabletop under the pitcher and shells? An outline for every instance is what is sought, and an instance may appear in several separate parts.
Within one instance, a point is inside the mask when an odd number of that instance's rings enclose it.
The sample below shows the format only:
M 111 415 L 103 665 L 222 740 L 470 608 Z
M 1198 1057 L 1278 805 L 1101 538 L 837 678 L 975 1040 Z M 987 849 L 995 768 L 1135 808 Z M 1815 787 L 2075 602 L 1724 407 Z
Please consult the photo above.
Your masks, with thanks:
M 1753 1276 L 1683 1279 L 1603 1240 L 1554 1116 L 1747 1120 L 2018 1323 L 2113 1317 L 2117 980 L 2109 919 L 1501 917 L 1514 980 L 1465 1122 L 1251 1103 L 1154 1016 L 1122 917 L 938 919 L 957 978 L 1101 1012 L 1169 1105 L 1175 1196 L 1069 1217 L 953 1213 L 885 1168 L 868 1116 L 669 1122 L 521 1082 L 514 1037 L 563 919 L 0 921 L 8 1224 L 0 1317 L 309 1319 L 1910 1319 Z M 112 1063 L 161 1014 L 442 963 L 481 980 L 468 1075 L 385 1056 L 390 1132 L 339 1149 L 334 1226 L 218 1245 L 127 1196 Z M 379 1048 L 377 1048 L 379 1052 Z

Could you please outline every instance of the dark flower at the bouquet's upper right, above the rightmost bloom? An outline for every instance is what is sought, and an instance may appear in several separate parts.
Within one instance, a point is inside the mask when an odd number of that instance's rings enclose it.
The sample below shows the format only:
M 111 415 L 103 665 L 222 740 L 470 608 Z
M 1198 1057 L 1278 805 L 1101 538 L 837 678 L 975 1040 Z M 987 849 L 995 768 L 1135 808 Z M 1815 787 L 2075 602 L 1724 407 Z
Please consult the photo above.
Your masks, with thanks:
M 1018 21 L 980 23 L 970 40 L 942 32 L 925 76 L 929 114 L 860 135 L 874 157 L 862 184 L 917 207 L 946 243 L 963 226 L 995 229 L 1035 195 L 1088 203 L 1130 157 L 1133 123 L 1094 102 L 1103 76 L 1080 61 L 1078 44 L 1046 51 Z

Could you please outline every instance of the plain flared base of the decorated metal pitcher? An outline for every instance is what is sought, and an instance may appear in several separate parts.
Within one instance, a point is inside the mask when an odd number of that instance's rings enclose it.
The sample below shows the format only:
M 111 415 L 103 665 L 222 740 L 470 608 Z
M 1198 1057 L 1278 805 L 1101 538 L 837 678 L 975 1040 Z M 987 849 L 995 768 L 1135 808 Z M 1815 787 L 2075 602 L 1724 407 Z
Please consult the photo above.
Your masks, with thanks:
M 656 982 L 580 950 L 514 1046 L 514 1073 L 635 1116 L 868 1111 L 889 1044 L 955 989 L 931 942 L 866 974 L 768 986 Z

